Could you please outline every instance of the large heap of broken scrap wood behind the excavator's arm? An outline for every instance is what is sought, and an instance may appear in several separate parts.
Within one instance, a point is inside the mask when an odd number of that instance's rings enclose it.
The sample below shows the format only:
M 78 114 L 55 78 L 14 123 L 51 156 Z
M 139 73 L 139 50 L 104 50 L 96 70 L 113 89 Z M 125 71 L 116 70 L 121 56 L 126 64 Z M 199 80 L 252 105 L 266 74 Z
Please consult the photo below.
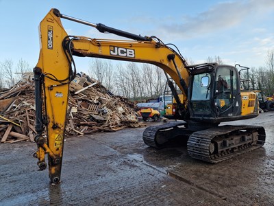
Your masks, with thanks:
M 113 95 L 100 82 L 77 74 L 70 85 L 66 135 L 84 135 L 144 126 L 138 122 L 136 106 Z M 0 91 L 1 142 L 34 141 L 34 82 L 29 76 L 6 91 Z

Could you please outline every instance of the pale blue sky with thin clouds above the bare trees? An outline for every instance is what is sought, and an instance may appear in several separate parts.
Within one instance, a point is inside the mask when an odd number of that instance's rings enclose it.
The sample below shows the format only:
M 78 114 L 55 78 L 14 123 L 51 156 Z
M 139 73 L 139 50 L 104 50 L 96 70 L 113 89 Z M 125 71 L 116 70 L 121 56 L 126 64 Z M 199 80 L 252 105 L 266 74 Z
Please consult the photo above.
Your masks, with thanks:
M 51 8 L 92 23 L 103 23 L 142 36 L 174 43 L 195 63 L 220 56 L 228 65 L 265 65 L 274 49 L 274 0 L 243 1 L 12 1 L 0 0 L 0 62 L 21 58 L 38 62 L 38 25 Z M 68 34 L 116 38 L 95 28 L 62 19 Z M 88 71 L 89 58 L 77 58 L 78 71 Z

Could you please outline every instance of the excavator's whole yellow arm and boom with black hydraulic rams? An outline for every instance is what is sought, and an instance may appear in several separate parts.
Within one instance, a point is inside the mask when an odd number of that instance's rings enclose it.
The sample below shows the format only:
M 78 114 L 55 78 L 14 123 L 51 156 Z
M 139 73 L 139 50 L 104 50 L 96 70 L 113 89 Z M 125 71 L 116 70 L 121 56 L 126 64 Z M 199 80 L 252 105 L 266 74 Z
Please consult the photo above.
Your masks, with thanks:
M 99 32 L 111 32 L 132 40 L 69 36 L 60 18 L 84 23 L 96 27 Z M 88 23 L 52 9 L 40 23 L 40 56 L 34 68 L 37 132 L 35 141 L 38 146 L 34 157 L 38 158 L 40 170 L 45 170 L 45 154 L 48 154 L 51 183 L 60 181 L 69 83 L 76 74 L 73 56 L 150 63 L 162 68 L 166 76 L 169 74 L 173 78 L 184 93 L 183 103 L 186 102 L 188 93 L 189 73 L 185 67 L 186 61 L 182 55 L 164 45 L 155 36 L 138 36 L 102 24 Z M 175 89 L 173 95 L 176 98 Z M 177 100 L 179 102 L 178 97 Z M 47 135 L 43 135 L 45 127 Z

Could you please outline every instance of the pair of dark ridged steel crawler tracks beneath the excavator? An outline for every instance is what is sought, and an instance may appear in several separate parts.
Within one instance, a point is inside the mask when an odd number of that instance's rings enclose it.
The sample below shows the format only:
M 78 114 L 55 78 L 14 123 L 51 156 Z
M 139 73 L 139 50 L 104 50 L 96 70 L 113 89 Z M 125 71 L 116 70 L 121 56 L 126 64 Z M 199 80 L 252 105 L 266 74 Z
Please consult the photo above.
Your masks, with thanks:
M 185 126 L 185 127 L 184 127 Z M 246 143 L 243 141 L 240 145 L 234 148 L 227 148 L 222 152 L 210 153 L 210 144 L 214 143 L 215 138 L 232 138 L 232 134 L 239 130 L 247 130 L 249 133 L 258 132 L 258 141 L 256 143 Z M 159 142 L 160 137 L 164 137 L 164 143 L 175 138 L 177 135 L 190 136 L 188 139 L 188 155 L 195 159 L 207 161 L 210 163 L 219 163 L 227 159 L 242 155 L 251 150 L 255 150 L 264 145 L 265 131 L 261 126 L 232 126 L 225 125 L 213 127 L 206 130 L 191 132 L 187 128 L 186 122 L 170 122 L 158 126 L 150 126 L 145 129 L 143 133 L 143 140 L 145 144 L 153 148 L 163 148 L 164 144 Z

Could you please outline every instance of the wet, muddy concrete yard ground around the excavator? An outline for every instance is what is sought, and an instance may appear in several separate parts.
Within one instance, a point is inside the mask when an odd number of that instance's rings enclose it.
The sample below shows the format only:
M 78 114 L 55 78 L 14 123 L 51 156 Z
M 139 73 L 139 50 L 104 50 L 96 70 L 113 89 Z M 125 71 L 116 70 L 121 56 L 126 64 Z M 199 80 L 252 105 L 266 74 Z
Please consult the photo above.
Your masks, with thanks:
M 184 144 L 149 148 L 145 128 L 70 137 L 57 185 L 37 171 L 34 143 L 1 144 L 0 205 L 274 205 L 273 119 L 229 122 L 264 126 L 266 143 L 216 165 L 191 159 Z

